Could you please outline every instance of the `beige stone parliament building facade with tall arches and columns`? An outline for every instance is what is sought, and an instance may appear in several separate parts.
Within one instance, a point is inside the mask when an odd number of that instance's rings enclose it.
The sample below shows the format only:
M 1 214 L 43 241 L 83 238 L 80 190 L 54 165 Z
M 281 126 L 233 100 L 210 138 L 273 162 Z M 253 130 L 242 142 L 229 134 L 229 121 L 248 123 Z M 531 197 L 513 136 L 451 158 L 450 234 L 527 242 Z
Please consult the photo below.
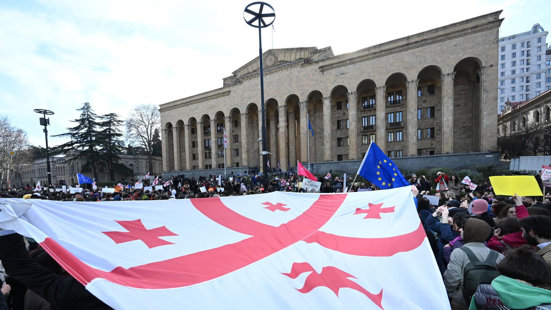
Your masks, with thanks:
M 266 51 L 271 167 L 307 162 L 308 151 L 311 162 L 360 159 L 371 140 L 390 157 L 495 151 L 500 13 L 337 56 Z M 259 80 L 257 57 L 222 88 L 161 104 L 163 171 L 262 167 Z

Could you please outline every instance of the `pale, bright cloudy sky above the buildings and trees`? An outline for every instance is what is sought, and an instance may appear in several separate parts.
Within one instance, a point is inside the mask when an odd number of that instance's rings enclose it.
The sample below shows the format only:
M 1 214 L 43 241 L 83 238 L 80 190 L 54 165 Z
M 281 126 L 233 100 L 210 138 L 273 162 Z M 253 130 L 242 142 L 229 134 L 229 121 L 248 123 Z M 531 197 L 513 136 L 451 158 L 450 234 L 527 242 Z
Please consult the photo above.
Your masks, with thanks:
M 256 29 L 242 18 L 249 1 L 1 0 L 0 114 L 44 146 L 36 108 L 56 113 L 49 127 L 56 135 L 85 101 L 125 119 L 136 104 L 222 87 L 223 77 L 258 56 Z M 500 9 L 500 36 L 535 23 L 551 29 L 547 1 L 268 3 L 277 15 L 274 48 L 331 46 L 335 55 Z M 271 29 L 262 35 L 266 51 Z M 50 138 L 50 145 L 62 142 Z

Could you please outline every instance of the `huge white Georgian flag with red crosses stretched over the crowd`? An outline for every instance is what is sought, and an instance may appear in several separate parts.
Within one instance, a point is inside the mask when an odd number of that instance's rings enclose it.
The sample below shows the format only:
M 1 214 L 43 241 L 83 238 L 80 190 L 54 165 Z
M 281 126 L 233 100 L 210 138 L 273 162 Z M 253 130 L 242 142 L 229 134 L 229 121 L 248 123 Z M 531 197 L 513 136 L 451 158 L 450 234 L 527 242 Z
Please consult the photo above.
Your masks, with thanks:
M 115 309 L 450 308 L 409 186 L 0 209 Z

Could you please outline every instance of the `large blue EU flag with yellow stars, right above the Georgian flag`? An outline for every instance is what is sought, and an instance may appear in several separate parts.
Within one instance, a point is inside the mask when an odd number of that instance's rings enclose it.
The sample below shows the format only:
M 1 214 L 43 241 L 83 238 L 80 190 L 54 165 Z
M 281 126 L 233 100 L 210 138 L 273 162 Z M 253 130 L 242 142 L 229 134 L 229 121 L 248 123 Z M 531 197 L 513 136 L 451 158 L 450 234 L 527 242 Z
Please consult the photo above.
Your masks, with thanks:
M 368 152 L 358 168 L 358 174 L 380 189 L 399 188 L 409 183 L 398 167 L 371 141 Z

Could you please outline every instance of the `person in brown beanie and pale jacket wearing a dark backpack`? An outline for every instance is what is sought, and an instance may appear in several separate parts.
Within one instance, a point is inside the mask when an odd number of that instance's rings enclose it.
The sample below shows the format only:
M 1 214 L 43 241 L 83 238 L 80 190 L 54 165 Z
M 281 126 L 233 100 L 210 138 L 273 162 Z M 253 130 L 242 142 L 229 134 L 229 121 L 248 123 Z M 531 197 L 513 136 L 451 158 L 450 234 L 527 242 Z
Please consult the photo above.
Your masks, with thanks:
M 487 222 L 468 218 L 460 226 L 463 247 L 453 250 L 444 272 L 444 285 L 451 298 L 452 310 L 467 310 L 480 284 L 490 284 L 499 276 L 495 264 L 503 258 L 484 245 L 492 229 Z

